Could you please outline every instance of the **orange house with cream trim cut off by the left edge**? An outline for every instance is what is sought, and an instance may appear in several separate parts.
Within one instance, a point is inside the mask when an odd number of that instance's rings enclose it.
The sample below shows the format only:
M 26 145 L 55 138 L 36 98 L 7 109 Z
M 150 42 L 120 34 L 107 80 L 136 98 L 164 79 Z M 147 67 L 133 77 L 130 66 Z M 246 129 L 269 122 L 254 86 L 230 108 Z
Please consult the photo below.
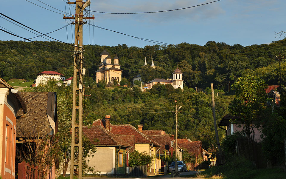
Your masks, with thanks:
M 27 105 L 18 90 L 0 78 L 0 176 L 2 179 L 15 178 L 16 113 Z

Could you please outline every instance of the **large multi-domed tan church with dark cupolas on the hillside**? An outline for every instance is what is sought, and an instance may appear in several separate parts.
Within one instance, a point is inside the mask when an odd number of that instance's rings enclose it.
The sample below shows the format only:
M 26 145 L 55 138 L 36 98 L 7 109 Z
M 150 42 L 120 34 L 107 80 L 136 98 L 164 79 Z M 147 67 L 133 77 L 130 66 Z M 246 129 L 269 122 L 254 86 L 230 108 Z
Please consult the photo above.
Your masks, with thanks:
M 115 56 L 113 58 L 113 64 L 111 63 L 111 56 L 109 53 L 104 50 L 100 54 L 100 64 L 98 65 L 99 69 L 95 72 L 96 82 L 100 80 L 106 81 L 106 84 L 117 80 L 121 81 L 122 71 L 119 65 L 119 58 Z

